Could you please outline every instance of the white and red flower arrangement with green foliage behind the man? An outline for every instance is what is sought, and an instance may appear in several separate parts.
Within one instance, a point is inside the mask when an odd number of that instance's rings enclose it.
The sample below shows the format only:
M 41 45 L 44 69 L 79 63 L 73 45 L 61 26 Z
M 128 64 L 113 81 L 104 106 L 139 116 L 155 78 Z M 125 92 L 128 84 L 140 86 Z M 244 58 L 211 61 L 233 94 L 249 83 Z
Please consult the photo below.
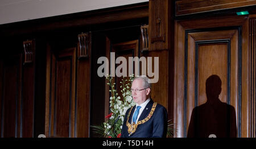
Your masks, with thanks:
M 111 93 L 109 107 L 110 114 L 106 115 L 105 118 L 108 120 L 102 123 L 101 126 L 91 126 L 94 133 L 100 135 L 101 137 L 108 138 L 120 138 L 123 119 L 125 118 L 126 111 L 135 105 L 133 102 L 133 97 L 131 96 L 131 82 L 133 82 L 134 74 L 129 76 L 129 79 L 122 78 L 120 82 L 122 98 L 118 96 L 117 90 L 115 89 L 115 83 L 113 82 L 113 77 L 107 76 L 106 79 L 109 81 L 107 84 L 110 87 L 109 92 Z M 167 135 L 174 136 L 176 129 L 174 129 L 174 123 L 172 120 L 168 120 Z

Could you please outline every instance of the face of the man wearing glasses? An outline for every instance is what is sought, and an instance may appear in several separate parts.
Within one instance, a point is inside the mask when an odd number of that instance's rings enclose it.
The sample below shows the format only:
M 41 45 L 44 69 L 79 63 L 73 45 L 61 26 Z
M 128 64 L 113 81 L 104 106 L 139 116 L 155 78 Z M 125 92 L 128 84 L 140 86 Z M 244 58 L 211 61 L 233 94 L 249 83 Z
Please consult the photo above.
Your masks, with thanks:
M 133 84 L 131 85 L 131 90 L 134 90 L 131 92 L 133 101 L 138 105 L 141 105 L 143 102 L 145 102 L 147 100 L 147 95 L 150 93 L 150 88 L 144 89 L 143 85 L 144 83 L 141 79 L 134 80 Z

